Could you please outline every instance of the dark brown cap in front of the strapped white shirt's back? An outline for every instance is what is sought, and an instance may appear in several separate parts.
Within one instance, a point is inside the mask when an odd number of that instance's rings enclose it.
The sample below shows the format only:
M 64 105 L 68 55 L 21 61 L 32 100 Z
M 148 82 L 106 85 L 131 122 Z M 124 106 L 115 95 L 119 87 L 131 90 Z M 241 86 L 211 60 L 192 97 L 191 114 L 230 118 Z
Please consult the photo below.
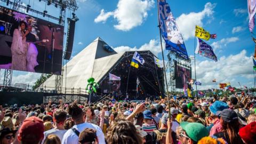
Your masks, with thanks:
M 96 131 L 94 129 L 86 128 L 80 134 L 78 141 L 80 143 L 93 142 L 97 139 Z

